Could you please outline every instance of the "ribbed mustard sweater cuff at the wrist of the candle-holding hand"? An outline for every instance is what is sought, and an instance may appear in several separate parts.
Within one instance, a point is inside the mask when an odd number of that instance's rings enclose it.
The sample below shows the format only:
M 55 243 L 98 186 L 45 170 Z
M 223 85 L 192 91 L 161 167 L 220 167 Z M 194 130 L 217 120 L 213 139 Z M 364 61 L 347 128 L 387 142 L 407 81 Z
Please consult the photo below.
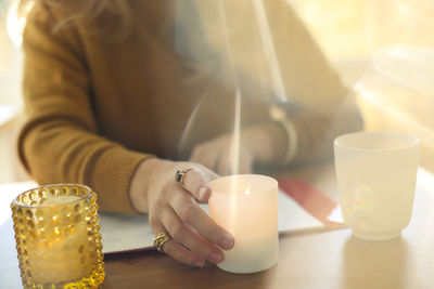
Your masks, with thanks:
M 152 157 L 153 155 L 118 148 L 101 156 L 93 170 L 91 185 L 102 210 L 138 214 L 129 197 L 129 187 L 139 165 Z

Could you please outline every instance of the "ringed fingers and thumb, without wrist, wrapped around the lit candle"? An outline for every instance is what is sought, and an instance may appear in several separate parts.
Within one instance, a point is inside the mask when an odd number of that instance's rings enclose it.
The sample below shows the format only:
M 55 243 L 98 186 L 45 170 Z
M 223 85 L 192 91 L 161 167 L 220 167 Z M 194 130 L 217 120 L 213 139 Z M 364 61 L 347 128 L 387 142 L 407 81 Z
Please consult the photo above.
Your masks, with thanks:
M 218 175 L 196 163 L 177 166 L 183 171 L 189 168 L 193 169 L 187 170 L 181 184 L 176 185 L 171 179 L 162 186 L 162 194 L 152 201 L 150 224 L 154 233 L 167 232 L 170 235 L 162 249 L 174 259 L 194 266 L 203 266 L 205 260 L 219 263 L 224 259 L 220 248 L 232 248 L 233 237 L 217 225 L 195 200 L 209 198 L 208 183 Z

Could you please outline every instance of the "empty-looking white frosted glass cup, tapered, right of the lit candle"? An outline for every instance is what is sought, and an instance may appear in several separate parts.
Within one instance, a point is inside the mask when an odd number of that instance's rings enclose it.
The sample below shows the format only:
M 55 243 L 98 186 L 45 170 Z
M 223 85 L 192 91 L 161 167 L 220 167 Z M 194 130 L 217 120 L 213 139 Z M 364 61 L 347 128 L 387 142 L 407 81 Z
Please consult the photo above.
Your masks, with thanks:
M 419 140 L 397 132 L 357 132 L 334 140 L 340 205 L 356 237 L 387 240 L 411 218 Z

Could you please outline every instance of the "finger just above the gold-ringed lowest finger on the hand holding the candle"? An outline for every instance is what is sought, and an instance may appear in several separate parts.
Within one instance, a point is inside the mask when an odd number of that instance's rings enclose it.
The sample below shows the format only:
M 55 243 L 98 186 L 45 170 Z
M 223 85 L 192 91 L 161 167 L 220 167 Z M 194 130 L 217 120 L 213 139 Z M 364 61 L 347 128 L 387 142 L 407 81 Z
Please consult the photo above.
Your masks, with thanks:
M 209 244 L 197 233 L 193 232 L 182 222 L 173 210 L 166 210 L 162 215 L 163 225 L 169 235 L 177 241 L 182 244 L 191 251 L 199 253 L 202 258 L 213 263 L 219 263 L 224 259 L 220 249 Z

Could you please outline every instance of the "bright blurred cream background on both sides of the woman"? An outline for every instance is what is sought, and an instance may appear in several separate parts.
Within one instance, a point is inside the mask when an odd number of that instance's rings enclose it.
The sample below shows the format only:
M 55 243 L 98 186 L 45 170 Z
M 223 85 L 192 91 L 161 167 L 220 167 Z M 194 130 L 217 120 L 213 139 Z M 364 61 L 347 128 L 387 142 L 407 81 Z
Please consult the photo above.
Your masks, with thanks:
M 357 97 L 366 129 L 420 137 L 434 171 L 434 1 L 286 0 Z M 15 140 L 23 111 L 17 1 L 0 0 L 0 182 L 25 180 Z

